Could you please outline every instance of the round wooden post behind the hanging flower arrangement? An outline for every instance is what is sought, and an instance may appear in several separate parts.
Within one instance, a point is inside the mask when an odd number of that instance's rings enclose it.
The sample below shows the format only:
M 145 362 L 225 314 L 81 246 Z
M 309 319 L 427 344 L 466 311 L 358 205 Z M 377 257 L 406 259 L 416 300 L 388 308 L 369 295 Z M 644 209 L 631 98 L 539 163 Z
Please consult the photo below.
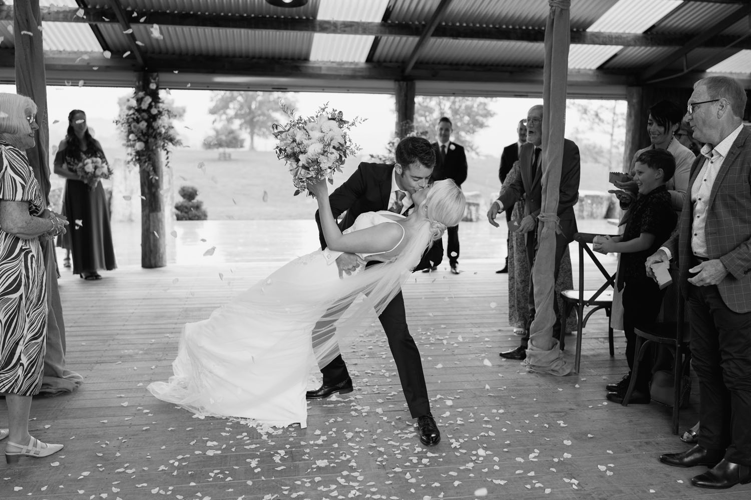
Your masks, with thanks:
M 143 72 L 136 83 L 136 91 L 144 91 L 154 102 L 159 101 L 158 73 Z M 150 168 L 140 170 L 141 188 L 141 267 L 162 268 L 167 265 L 164 203 L 161 199 L 162 164 L 158 144 L 146 142 Z

